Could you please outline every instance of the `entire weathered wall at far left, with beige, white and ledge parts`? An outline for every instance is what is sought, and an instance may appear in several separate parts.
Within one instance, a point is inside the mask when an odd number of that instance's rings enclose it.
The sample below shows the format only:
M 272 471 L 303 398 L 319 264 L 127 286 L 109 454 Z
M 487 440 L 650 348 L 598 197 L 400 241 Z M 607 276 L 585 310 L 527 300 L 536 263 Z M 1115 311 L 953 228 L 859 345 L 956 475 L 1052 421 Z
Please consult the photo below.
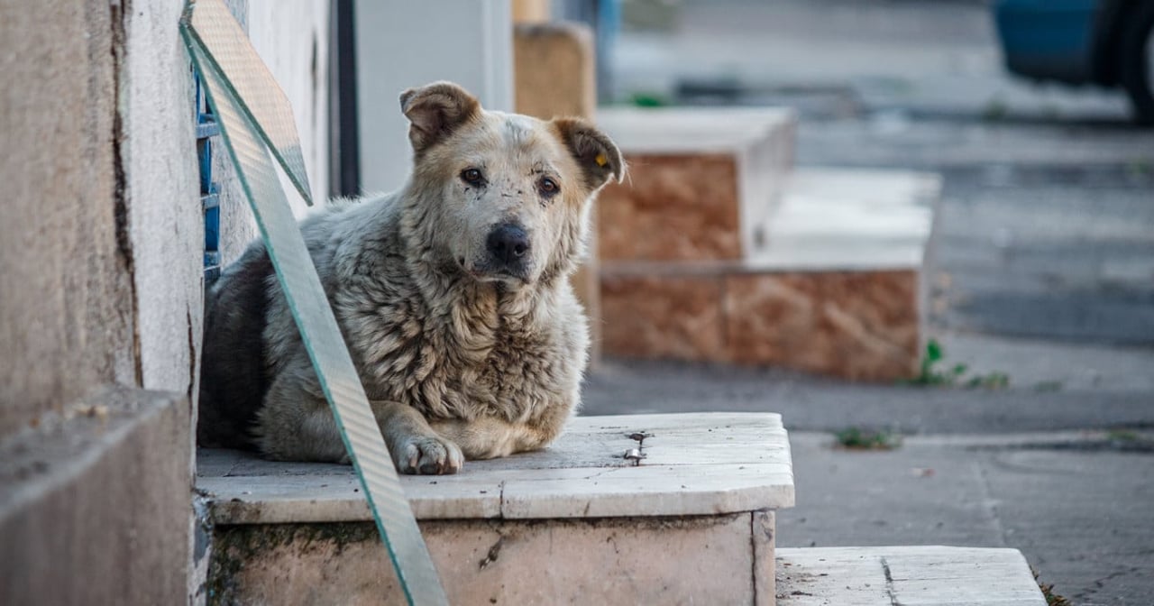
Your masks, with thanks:
M 0 0 L 0 604 L 188 600 L 204 234 L 183 3 Z M 228 3 L 323 201 L 328 2 Z M 235 256 L 255 230 L 216 163 Z

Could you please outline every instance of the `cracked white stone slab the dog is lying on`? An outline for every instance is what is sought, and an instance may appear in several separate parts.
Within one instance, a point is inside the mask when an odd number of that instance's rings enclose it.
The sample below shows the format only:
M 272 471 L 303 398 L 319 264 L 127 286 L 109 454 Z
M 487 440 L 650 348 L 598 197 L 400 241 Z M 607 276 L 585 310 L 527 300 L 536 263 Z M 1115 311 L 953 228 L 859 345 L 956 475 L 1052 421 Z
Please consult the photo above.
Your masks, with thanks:
M 644 455 L 637 465 L 623 456 L 635 448 Z M 197 470 L 219 524 L 372 519 L 345 465 L 203 449 Z M 718 515 L 794 504 L 788 436 L 774 413 L 578 417 L 545 450 L 402 480 L 418 519 Z

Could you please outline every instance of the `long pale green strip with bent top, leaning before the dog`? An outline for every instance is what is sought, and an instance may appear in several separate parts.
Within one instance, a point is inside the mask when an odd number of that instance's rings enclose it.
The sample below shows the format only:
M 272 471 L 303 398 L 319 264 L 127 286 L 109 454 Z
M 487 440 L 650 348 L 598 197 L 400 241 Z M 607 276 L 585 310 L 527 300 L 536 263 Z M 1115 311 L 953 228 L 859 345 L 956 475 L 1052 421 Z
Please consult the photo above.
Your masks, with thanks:
M 212 18 L 197 18 L 202 10 L 210 12 Z M 222 16 L 222 10 L 227 18 Z M 249 74 L 256 70 L 268 74 L 268 70 L 248 38 L 242 31 L 238 36 L 238 31 L 241 31 L 239 24 L 220 0 L 196 0 L 188 6 L 181 20 L 185 44 L 204 80 L 207 98 L 220 125 L 225 148 L 256 216 L 277 278 L 320 376 L 324 397 L 329 401 L 353 469 L 365 488 L 373 518 L 405 597 L 411 605 L 448 604 L 305 239 L 269 158 L 267 143 L 272 144 L 273 155 L 282 162 L 292 155 L 292 149 L 277 154 L 276 142 L 290 142 L 290 148 L 294 147 L 299 155 L 299 137 L 291 111 L 288 119 L 284 119 L 287 98 L 275 81 Z M 246 82 L 248 88 L 237 87 L 239 81 Z M 261 87 L 273 87 L 277 93 L 254 90 Z M 245 93 L 256 93 L 258 100 L 249 98 L 246 104 Z M 264 128 L 260 124 L 262 117 L 272 117 L 270 122 L 263 125 Z M 287 129 L 292 132 L 285 133 Z M 300 177 L 307 184 L 304 162 L 300 164 Z

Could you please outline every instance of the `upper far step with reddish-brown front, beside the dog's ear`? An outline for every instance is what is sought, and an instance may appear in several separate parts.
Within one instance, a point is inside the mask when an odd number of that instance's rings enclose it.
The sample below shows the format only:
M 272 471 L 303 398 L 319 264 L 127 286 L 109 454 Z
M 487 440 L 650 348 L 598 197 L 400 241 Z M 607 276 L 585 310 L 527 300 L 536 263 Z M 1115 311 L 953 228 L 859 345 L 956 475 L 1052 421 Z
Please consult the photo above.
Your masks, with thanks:
M 598 200 L 602 261 L 740 260 L 765 239 L 793 167 L 785 109 L 604 109 L 628 180 Z

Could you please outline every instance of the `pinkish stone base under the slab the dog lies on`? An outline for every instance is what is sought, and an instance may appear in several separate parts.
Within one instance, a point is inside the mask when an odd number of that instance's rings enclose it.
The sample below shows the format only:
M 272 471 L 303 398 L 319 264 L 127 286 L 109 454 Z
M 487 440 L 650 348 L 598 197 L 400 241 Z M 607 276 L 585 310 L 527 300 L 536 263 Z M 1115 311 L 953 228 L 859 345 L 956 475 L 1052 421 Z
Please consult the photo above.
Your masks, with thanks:
M 772 605 L 773 514 L 426 521 L 450 604 Z M 403 604 L 372 523 L 217 528 L 209 603 Z

